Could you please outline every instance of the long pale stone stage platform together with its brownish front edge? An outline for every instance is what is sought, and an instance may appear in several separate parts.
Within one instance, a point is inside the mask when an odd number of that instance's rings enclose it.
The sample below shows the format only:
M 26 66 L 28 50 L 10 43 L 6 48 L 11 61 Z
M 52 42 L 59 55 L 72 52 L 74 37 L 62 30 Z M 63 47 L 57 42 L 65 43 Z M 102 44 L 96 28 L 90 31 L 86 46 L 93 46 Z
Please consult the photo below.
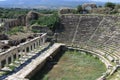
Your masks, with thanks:
M 31 63 L 29 63 L 19 72 L 13 74 L 12 76 L 9 76 L 7 80 L 14 80 L 15 78 L 18 78 L 16 80 L 19 80 L 19 78 L 24 79 L 31 77 L 36 72 L 36 70 L 40 69 L 45 64 L 46 60 L 51 55 L 53 54 L 55 55 L 60 50 L 61 45 L 63 44 L 58 44 L 58 43 L 54 44 L 48 50 L 43 52 L 39 57 L 33 59 Z

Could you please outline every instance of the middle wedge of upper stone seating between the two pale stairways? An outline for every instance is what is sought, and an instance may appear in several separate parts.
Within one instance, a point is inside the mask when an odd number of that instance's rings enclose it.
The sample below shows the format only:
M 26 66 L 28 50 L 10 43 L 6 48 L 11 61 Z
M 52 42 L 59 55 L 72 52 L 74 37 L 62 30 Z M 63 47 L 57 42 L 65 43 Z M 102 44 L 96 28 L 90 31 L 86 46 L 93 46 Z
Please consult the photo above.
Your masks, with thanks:
M 94 33 L 102 17 L 82 16 L 77 29 L 74 42 L 86 42 Z

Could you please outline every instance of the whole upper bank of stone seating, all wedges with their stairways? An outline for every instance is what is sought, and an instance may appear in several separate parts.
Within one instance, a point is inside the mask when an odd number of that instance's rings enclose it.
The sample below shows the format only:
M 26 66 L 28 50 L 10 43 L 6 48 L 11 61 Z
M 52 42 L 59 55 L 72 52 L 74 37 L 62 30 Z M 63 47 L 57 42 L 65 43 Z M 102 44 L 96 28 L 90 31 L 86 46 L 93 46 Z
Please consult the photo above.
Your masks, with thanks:
M 64 30 L 59 33 L 58 41 L 120 51 L 119 21 L 119 16 L 62 15 Z

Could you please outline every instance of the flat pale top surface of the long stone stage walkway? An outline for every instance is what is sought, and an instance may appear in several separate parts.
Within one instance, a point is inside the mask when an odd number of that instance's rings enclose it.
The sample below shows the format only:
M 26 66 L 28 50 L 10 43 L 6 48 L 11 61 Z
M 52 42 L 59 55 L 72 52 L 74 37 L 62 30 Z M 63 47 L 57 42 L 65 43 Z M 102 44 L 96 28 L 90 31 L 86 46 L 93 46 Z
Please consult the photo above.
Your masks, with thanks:
M 36 59 L 32 59 L 31 62 L 19 70 L 17 73 L 6 78 L 6 80 L 21 80 L 28 76 L 34 69 L 38 67 L 38 65 L 42 65 L 42 63 L 48 58 L 57 48 L 59 48 L 62 44 L 55 43 L 48 50 L 41 53 Z

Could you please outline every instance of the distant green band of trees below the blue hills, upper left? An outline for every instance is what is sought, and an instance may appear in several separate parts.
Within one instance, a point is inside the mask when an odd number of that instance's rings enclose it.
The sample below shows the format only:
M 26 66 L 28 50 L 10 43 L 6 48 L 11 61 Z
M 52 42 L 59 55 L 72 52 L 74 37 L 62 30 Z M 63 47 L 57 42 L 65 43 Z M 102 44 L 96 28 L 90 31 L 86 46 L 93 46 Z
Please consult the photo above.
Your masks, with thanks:
M 26 15 L 29 11 L 36 11 L 43 14 L 52 14 L 56 10 L 40 10 L 40 9 L 23 9 L 23 8 L 0 8 L 0 18 L 17 18 Z

